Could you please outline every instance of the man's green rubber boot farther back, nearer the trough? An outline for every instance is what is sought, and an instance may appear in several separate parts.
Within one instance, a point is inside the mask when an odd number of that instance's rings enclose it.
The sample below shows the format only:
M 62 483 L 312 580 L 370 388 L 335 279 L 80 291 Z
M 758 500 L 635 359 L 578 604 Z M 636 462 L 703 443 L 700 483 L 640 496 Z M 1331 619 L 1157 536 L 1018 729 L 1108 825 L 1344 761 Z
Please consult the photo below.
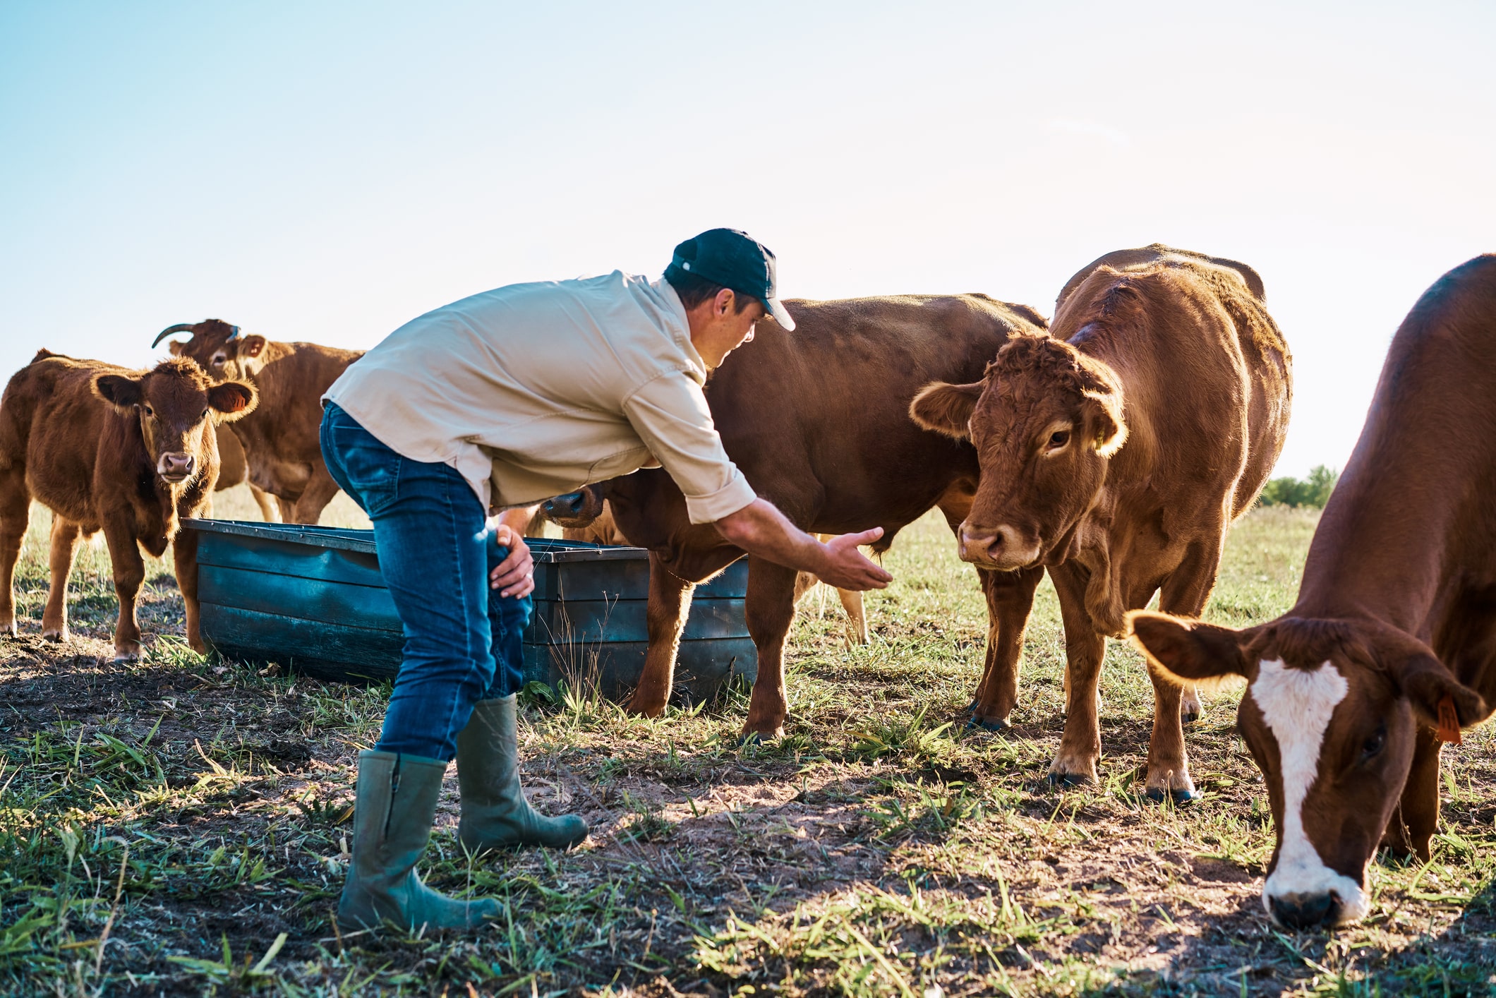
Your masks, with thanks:
M 586 838 L 574 814 L 548 818 L 534 811 L 519 786 L 515 694 L 479 700 L 458 735 L 458 786 L 462 820 L 458 838 L 468 850 L 549 845 L 567 848 Z

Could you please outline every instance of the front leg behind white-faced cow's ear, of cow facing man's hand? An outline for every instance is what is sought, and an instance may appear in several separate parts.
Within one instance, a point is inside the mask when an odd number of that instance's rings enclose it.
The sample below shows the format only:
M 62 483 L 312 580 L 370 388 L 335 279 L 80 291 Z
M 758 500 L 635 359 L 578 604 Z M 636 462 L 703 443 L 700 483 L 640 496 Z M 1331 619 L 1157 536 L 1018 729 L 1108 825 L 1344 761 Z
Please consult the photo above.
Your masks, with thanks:
M 1218 531 L 1224 537 L 1224 531 Z M 1176 616 L 1198 616 L 1215 588 L 1221 567 L 1221 543 L 1194 545 L 1177 569 L 1164 581 L 1158 594 L 1158 609 Z M 1146 601 L 1146 597 L 1144 597 Z M 1185 750 L 1183 702 L 1185 688 L 1161 676 L 1147 666 L 1153 682 L 1153 733 L 1147 739 L 1147 780 L 1143 784 L 1150 800 L 1165 796 L 1176 803 L 1194 800 L 1200 795 L 1189 778 L 1189 754 Z M 1189 688 L 1194 714 L 1200 714 L 1200 697 Z

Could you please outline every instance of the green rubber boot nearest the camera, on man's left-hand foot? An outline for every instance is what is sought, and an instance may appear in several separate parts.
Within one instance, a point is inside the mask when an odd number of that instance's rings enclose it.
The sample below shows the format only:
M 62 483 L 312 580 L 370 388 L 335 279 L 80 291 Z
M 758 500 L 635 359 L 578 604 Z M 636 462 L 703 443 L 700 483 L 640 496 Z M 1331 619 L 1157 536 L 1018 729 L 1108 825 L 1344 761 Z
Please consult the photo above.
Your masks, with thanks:
M 491 898 L 455 901 L 420 883 L 416 863 L 431 839 L 447 765 L 399 753 L 359 753 L 353 806 L 353 862 L 338 901 L 338 925 L 373 929 L 384 922 L 416 932 L 476 929 L 500 914 Z

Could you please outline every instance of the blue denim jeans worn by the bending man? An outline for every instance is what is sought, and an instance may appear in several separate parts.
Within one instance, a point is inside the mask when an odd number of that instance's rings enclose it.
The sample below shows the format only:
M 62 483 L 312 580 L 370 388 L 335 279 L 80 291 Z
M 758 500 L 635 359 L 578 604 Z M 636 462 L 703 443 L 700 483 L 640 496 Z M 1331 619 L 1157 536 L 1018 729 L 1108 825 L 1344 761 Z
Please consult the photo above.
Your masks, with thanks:
M 509 551 L 479 540 L 483 507 L 455 468 L 399 456 L 332 402 L 322 456 L 374 522 L 380 573 L 405 631 L 375 748 L 450 760 L 473 705 L 524 684 L 521 637 L 534 603 L 489 588 L 488 573 Z

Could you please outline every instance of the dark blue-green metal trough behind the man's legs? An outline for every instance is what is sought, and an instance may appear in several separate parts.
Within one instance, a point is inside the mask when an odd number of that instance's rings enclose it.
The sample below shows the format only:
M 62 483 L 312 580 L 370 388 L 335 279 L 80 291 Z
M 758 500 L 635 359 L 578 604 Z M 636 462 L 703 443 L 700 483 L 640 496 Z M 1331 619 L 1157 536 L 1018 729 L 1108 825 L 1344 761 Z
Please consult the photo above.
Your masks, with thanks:
M 325 679 L 399 672 L 399 616 L 380 576 L 373 530 L 188 519 L 196 530 L 202 636 L 227 658 L 278 661 Z M 530 539 L 536 612 L 525 630 L 525 682 L 595 684 L 619 699 L 639 682 L 648 640 L 649 555 L 574 540 Z M 675 669 L 676 696 L 711 699 L 752 679 L 748 563 L 696 588 Z

